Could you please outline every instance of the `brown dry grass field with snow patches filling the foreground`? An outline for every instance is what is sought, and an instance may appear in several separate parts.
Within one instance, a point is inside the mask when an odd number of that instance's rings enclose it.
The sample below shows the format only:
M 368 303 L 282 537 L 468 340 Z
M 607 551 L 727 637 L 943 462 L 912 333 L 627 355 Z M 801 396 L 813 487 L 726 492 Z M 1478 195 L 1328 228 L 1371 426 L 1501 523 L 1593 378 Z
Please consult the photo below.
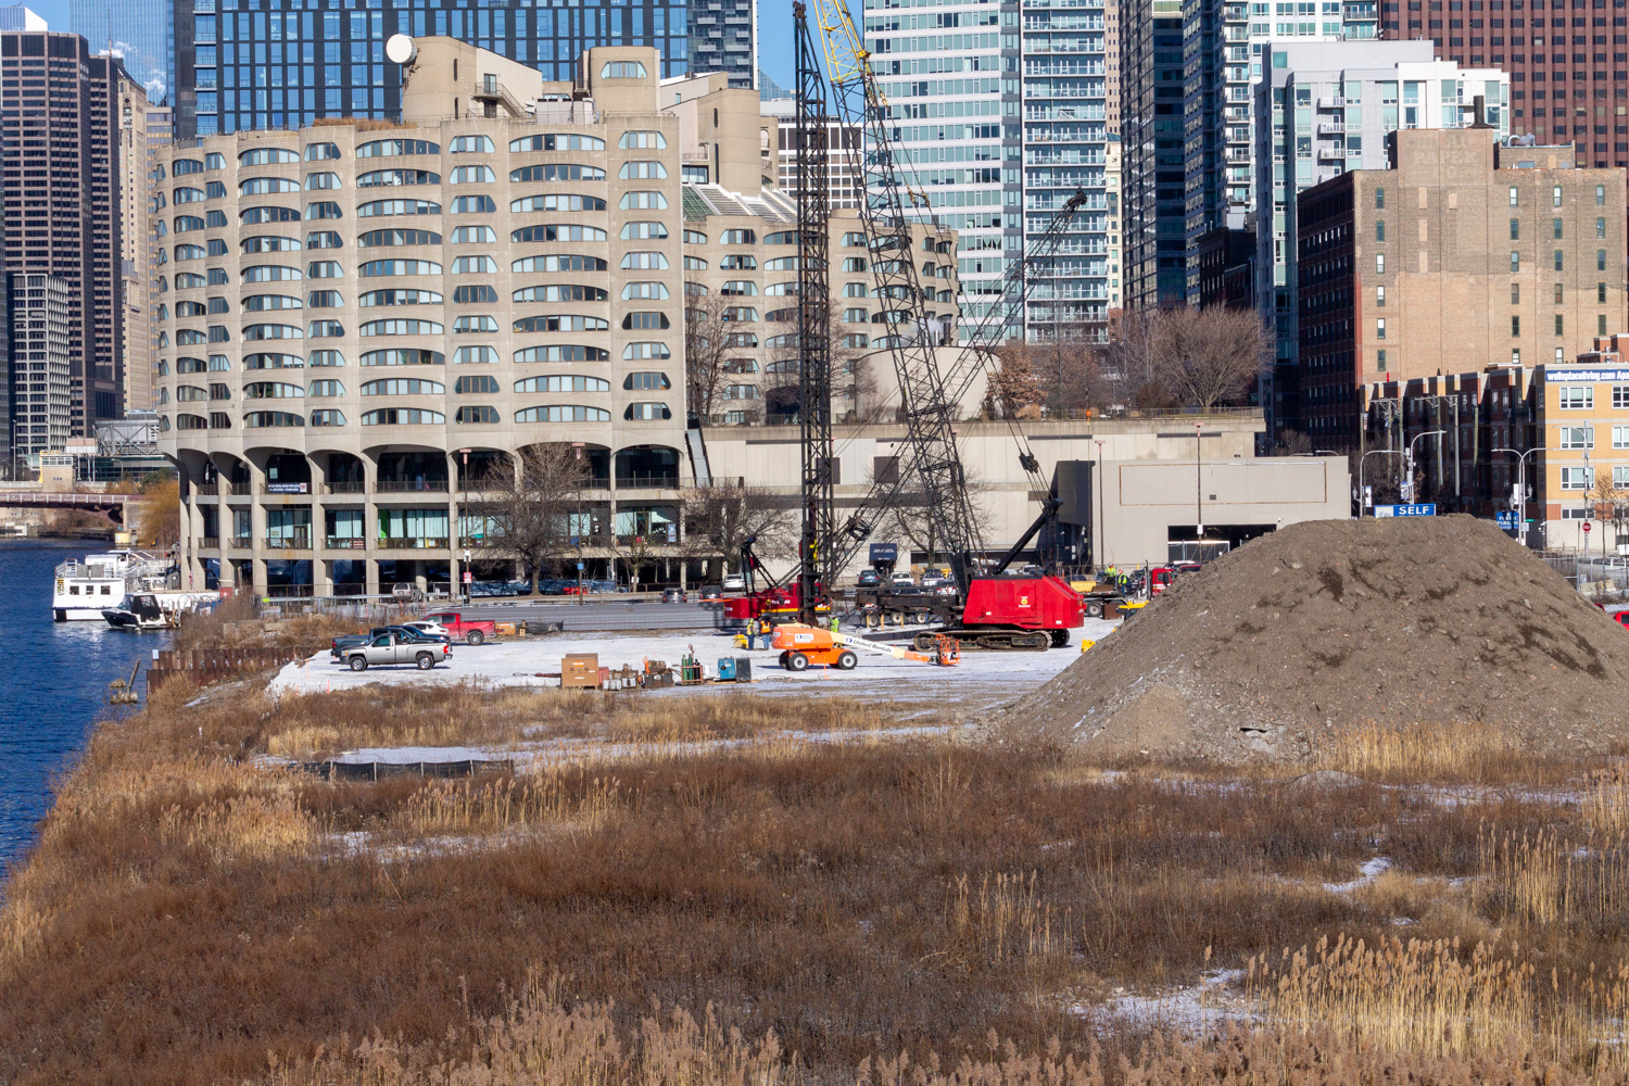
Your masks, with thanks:
M 0 912 L 0 1083 L 1626 1081 L 1613 759 L 1375 728 L 1350 783 L 841 698 L 257 687 L 173 684 L 60 783 Z M 474 780 L 274 765 L 547 739 Z

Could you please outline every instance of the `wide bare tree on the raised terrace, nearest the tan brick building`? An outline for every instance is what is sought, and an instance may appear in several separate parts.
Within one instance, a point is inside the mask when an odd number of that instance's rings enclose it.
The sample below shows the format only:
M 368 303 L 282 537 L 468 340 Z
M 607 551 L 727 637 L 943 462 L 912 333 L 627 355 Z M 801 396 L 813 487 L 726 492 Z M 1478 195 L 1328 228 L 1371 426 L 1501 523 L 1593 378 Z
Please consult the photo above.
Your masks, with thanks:
M 1243 401 L 1271 350 L 1267 329 L 1245 309 L 1165 309 L 1155 322 L 1160 383 L 1178 405 Z

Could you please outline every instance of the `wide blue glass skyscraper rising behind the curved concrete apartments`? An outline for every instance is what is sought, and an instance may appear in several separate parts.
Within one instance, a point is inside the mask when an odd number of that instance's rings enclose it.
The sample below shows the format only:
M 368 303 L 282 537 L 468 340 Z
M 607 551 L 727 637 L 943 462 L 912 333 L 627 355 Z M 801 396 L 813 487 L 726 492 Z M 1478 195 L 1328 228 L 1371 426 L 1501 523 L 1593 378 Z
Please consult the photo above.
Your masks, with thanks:
M 725 0 L 717 2 L 722 8 Z M 663 78 L 687 70 L 684 0 L 171 3 L 178 137 L 318 117 L 394 117 L 401 67 L 384 57 L 391 34 L 458 37 L 533 65 L 547 80 L 573 78 L 577 57 L 595 46 L 653 46 Z

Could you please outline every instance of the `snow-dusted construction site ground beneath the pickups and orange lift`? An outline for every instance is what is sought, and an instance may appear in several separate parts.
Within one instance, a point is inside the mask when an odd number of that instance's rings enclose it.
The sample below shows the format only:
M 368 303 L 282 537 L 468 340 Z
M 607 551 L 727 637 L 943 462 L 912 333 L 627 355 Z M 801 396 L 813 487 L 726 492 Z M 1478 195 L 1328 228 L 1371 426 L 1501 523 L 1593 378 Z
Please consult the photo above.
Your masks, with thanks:
M 678 668 L 679 659 L 694 650 L 709 679 L 718 674 L 720 658 L 751 658 L 751 685 L 709 682 L 661 690 L 635 690 L 629 692 L 629 697 L 689 697 L 728 690 L 771 695 L 808 694 L 829 687 L 832 694 L 847 697 L 872 695 L 894 702 L 935 702 L 963 715 L 976 715 L 1036 690 L 1080 656 L 1082 638 L 1100 640 L 1117 625 L 1119 622 L 1087 619 L 1083 628 L 1070 632 L 1067 648 L 1052 648 L 1043 653 L 969 651 L 961 656 L 959 664 L 950 668 L 860 651 L 860 663 L 854 671 L 810 668 L 801 674 L 784 671 L 779 664 L 779 651 L 764 648 L 746 651 L 736 646 L 733 633 L 722 630 L 557 633 L 498 640 L 481 646 L 454 645 L 451 661 L 438 664 L 433 671 L 417 671 L 411 664 L 350 671 L 336 663 L 324 650 L 303 663 L 285 666 L 272 679 L 269 692 L 277 695 L 319 694 L 368 684 L 422 685 L 427 682 L 557 687 L 560 685 L 559 677 L 544 677 L 544 672 L 559 674 L 560 658 L 567 653 L 595 653 L 599 656 L 601 668 L 629 666 L 637 671 L 643 668 L 647 659 L 660 659 Z M 906 627 L 906 630 L 911 628 L 914 627 Z M 855 630 L 844 632 L 857 633 Z

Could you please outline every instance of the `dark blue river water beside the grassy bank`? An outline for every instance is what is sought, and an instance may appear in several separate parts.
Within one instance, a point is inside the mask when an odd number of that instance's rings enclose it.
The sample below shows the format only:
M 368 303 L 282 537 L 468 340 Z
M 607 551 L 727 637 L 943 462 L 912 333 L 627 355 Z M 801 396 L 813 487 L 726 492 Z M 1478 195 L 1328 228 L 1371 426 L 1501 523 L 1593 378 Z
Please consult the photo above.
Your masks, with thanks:
M 0 539 L 0 865 L 34 842 L 52 775 L 73 765 L 96 721 L 127 712 L 108 705 L 108 684 L 169 643 L 168 633 L 50 620 L 57 563 L 108 549 L 93 539 Z

